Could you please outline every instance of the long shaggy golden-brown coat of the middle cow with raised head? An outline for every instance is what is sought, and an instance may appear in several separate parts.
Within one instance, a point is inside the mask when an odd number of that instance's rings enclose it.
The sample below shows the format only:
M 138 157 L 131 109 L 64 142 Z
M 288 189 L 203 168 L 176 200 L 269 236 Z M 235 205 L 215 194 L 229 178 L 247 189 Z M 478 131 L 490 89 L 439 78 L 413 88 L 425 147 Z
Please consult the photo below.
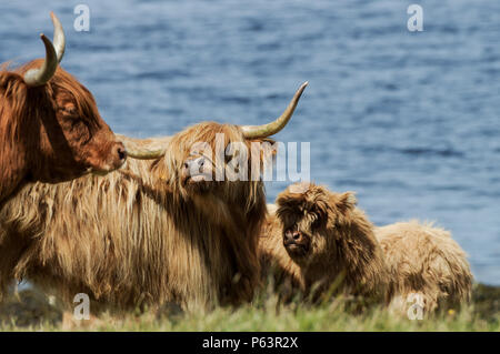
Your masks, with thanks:
M 216 151 L 217 133 L 224 134 L 224 146 L 250 148 L 239 127 L 200 123 L 173 135 L 153 162 L 129 160 L 102 178 L 23 188 L 0 211 L 2 285 L 27 279 L 69 304 L 87 293 L 96 300 L 92 313 L 251 300 L 263 183 L 200 182 L 184 174 L 184 162 L 201 155 L 193 155 L 193 144 L 208 142 Z

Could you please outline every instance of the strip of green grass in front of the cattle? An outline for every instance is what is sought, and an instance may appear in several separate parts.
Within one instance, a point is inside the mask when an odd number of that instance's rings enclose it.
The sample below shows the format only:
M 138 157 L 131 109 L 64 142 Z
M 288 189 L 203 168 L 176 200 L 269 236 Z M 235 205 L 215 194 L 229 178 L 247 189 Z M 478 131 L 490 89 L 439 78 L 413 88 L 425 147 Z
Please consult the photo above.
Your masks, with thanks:
M 61 312 L 32 290 L 11 296 L 0 306 L 0 331 L 62 331 Z M 370 309 L 353 314 L 342 300 L 322 305 L 277 305 L 273 295 L 240 307 L 183 313 L 102 315 L 78 331 L 500 331 L 500 287 L 478 284 L 473 301 L 461 310 L 439 313 L 421 321 Z

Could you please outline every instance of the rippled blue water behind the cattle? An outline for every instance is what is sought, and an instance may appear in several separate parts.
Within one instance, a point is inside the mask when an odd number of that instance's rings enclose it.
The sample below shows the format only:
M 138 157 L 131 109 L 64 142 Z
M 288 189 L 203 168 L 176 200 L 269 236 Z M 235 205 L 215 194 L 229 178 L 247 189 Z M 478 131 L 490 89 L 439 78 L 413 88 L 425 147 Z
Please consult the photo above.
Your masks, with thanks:
M 500 1 L 418 1 L 424 31 L 409 32 L 412 2 L 86 0 L 77 32 L 78 1 L 3 1 L 0 61 L 42 55 L 54 10 L 62 65 L 140 138 L 263 123 L 309 80 L 276 138 L 311 142 L 311 179 L 357 191 L 378 224 L 436 220 L 500 284 Z

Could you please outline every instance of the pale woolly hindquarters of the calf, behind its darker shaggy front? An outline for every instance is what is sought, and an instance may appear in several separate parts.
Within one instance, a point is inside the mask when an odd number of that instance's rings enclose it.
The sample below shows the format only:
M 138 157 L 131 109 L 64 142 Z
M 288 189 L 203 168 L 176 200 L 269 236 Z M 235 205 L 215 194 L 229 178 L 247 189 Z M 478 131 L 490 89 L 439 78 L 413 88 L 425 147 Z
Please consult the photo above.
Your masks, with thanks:
M 430 312 L 470 300 L 467 255 L 448 231 L 412 221 L 377 227 L 376 235 L 391 279 L 392 309 L 408 309 L 417 300 L 411 294 L 420 295 L 420 305 Z

